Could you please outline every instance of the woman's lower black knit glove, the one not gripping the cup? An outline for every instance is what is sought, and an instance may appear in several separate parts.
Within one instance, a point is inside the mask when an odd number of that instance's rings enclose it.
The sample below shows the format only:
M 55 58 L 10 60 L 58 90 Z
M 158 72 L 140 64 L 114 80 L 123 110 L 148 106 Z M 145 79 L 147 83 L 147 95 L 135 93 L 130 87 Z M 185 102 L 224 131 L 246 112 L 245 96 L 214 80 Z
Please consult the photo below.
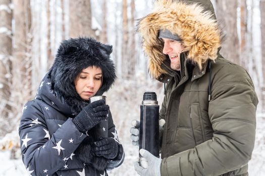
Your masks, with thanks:
M 96 156 L 103 156 L 108 159 L 114 159 L 118 156 L 120 146 L 114 138 L 108 137 L 94 142 L 93 147 Z

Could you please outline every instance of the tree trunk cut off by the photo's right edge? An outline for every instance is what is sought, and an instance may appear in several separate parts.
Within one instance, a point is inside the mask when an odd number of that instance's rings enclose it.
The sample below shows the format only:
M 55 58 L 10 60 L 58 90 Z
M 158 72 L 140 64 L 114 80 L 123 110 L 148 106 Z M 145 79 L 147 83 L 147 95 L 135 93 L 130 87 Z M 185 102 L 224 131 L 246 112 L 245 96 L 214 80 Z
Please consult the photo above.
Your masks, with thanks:
M 262 58 L 262 113 L 265 113 L 265 0 L 260 0 L 260 17 L 261 17 L 261 58 Z

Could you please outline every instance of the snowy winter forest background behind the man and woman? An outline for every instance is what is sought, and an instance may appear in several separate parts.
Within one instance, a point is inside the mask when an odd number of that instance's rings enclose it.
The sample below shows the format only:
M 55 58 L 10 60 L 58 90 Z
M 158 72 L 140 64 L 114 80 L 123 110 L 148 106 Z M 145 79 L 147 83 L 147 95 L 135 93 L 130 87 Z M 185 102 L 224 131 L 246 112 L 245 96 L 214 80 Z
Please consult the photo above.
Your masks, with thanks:
M 265 175 L 265 0 L 212 0 L 226 34 L 221 54 L 251 75 L 259 98 L 255 148 L 249 175 Z M 18 125 L 24 104 L 35 96 L 60 42 L 91 36 L 113 45 L 118 79 L 106 94 L 124 164 L 110 175 L 136 175 L 138 148 L 130 144 L 130 123 L 139 119 L 145 91 L 163 100 L 163 84 L 148 75 L 136 33 L 137 19 L 151 12 L 142 0 L 0 0 L 0 175 L 27 175 Z

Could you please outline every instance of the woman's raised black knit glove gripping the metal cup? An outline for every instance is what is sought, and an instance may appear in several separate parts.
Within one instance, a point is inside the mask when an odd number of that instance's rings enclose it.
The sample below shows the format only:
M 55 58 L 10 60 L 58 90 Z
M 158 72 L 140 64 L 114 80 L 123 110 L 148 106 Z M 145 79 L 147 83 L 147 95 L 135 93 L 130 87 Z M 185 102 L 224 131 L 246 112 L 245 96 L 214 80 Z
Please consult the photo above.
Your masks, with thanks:
M 90 103 L 73 119 L 77 129 L 85 133 L 100 121 L 107 119 L 110 107 L 105 105 L 105 100 Z

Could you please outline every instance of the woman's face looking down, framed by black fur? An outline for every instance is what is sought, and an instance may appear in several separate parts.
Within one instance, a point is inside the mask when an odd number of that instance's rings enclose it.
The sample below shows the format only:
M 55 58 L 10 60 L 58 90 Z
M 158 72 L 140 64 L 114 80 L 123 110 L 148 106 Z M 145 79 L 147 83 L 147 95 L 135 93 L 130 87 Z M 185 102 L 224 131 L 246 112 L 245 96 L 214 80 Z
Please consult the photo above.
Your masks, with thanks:
M 75 89 L 83 100 L 93 97 L 101 86 L 101 68 L 92 66 L 87 67 L 79 73 L 75 80 Z

